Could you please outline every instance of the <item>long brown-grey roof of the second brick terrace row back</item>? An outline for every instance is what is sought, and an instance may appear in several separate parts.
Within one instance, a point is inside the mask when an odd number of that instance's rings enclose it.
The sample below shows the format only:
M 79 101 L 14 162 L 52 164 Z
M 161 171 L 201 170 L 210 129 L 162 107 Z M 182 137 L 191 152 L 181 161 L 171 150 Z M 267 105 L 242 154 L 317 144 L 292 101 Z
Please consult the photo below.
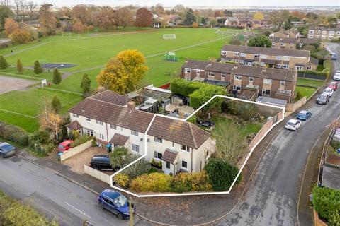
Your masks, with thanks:
M 265 54 L 270 56 L 289 56 L 289 57 L 310 57 L 307 50 L 297 49 L 273 49 L 265 47 L 246 47 L 241 45 L 225 45 L 222 47 L 224 51 L 243 52 L 249 54 Z

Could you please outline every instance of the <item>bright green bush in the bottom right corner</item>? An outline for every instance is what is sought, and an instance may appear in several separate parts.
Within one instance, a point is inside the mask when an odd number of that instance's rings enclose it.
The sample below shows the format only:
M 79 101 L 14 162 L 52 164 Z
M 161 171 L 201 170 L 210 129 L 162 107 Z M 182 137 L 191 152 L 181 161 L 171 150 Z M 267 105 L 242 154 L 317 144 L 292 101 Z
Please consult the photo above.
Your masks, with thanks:
M 327 221 L 334 218 L 340 206 L 340 191 L 314 186 L 312 203 L 321 218 Z

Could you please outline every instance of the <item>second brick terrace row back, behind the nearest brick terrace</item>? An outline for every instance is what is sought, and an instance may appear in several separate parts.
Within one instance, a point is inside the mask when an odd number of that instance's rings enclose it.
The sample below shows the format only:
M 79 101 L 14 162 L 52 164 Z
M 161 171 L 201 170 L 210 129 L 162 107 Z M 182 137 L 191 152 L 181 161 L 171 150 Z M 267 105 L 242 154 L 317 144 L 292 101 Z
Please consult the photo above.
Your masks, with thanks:
M 225 45 L 221 61 L 231 61 L 246 66 L 266 66 L 276 69 L 316 70 L 317 62 L 310 51 Z

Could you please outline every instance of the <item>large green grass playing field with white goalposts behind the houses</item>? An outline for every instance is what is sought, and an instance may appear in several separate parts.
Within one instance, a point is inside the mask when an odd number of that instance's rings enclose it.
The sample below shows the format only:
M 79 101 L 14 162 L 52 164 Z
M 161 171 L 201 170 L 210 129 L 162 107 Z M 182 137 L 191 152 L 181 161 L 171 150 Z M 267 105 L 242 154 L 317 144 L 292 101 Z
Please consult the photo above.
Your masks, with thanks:
M 66 112 L 69 107 L 81 100 L 81 97 L 75 93 L 81 92 L 82 75 L 88 73 L 91 78 L 91 87 L 96 88 L 96 75 L 106 64 L 106 61 L 125 49 L 137 49 L 147 58 L 149 71 L 140 83 L 140 87 L 169 83 L 172 78 L 179 76 L 181 65 L 186 57 L 203 60 L 218 58 L 222 45 L 227 44 L 232 35 L 239 30 L 225 29 L 223 32 L 226 33 L 222 35 L 215 29 L 181 28 L 83 34 L 80 37 L 78 35 L 71 35 L 71 37 L 58 35 L 44 38 L 39 42 L 1 49 L 0 55 L 4 55 L 8 63 L 14 66 L 17 59 L 21 59 L 23 66 L 26 67 L 33 66 L 35 60 L 42 61 L 42 63 L 67 63 L 77 66 L 61 69 L 66 78 L 60 85 L 51 87 L 74 93 L 32 88 L 0 95 L 0 121 L 16 124 L 28 131 L 38 129 L 38 119 L 35 117 L 41 112 L 42 97 L 50 99 L 53 95 L 57 95 Z M 176 34 L 176 40 L 164 40 L 164 34 Z M 167 52 L 175 52 L 179 61 L 165 61 L 164 54 Z M 1 74 L 20 76 L 21 78 L 26 76 L 26 78 L 36 81 L 40 78 L 47 78 L 47 81 L 52 81 L 52 73 L 36 76 L 30 69 L 25 69 L 22 74 L 18 74 L 15 69 L 10 68 L 0 71 L 0 76 Z M 13 100 L 17 101 L 13 102 Z M 1 109 L 8 110 L 8 112 L 1 111 Z

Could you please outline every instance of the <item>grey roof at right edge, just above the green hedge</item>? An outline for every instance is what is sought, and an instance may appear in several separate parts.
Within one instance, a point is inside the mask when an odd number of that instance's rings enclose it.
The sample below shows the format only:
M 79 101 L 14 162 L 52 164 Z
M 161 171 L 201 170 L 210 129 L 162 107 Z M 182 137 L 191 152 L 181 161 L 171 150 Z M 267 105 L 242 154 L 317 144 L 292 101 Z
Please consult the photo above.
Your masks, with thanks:
M 329 189 L 340 190 L 340 168 L 324 165 L 321 185 Z

